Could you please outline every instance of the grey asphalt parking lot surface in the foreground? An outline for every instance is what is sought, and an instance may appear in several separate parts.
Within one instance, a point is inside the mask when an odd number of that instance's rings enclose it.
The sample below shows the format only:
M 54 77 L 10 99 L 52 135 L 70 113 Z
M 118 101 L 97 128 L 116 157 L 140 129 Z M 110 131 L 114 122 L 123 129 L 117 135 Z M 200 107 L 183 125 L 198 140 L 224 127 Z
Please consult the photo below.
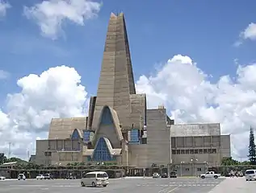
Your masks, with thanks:
M 1 193 L 208 193 L 227 179 L 110 179 L 107 187 L 81 187 L 80 180 L 5 180 L 0 182 Z M 231 181 L 231 179 L 229 179 Z M 246 183 L 246 180 L 243 180 Z M 254 183 L 254 182 L 252 182 Z M 256 185 L 256 182 L 255 182 Z M 218 187 L 220 188 L 220 187 Z M 254 189 L 255 190 L 255 189 Z M 219 192 L 219 191 L 217 191 Z M 243 191 L 240 190 L 240 193 Z M 215 193 L 215 191 L 214 191 Z M 250 192 L 248 192 L 250 193 Z

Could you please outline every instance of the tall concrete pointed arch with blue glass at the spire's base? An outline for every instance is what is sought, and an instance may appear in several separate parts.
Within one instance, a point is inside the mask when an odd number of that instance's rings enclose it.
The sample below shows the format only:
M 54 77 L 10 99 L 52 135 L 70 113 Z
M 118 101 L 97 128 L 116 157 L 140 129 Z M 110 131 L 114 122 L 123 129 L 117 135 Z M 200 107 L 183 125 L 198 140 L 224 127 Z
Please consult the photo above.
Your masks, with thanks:
M 95 144 L 95 140 L 97 138 L 97 133 L 99 132 L 99 128 L 101 124 L 112 124 L 114 126 L 115 129 L 115 133 L 117 135 L 118 140 L 123 140 L 123 135 L 120 129 L 120 121 L 119 118 L 117 116 L 117 113 L 115 112 L 114 109 L 111 109 L 111 107 L 105 105 L 103 106 L 103 109 L 100 113 L 100 117 L 99 117 L 99 125 L 97 126 L 95 133 L 94 133 L 94 139 L 93 139 L 93 143 Z

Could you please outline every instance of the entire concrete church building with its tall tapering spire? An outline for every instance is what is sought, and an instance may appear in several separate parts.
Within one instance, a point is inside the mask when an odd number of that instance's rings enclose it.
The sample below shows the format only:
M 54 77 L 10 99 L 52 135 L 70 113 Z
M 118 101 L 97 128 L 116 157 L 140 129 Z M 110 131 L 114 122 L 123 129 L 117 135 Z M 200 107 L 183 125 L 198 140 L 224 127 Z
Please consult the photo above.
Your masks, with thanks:
M 170 164 L 220 165 L 230 157 L 220 124 L 175 125 L 163 106 L 147 109 L 137 94 L 124 14 L 111 14 L 97 96 L 88 117 L 53 118 L 48 139 L 36 141 L 36 163 L 112 162 L 149 168 Z

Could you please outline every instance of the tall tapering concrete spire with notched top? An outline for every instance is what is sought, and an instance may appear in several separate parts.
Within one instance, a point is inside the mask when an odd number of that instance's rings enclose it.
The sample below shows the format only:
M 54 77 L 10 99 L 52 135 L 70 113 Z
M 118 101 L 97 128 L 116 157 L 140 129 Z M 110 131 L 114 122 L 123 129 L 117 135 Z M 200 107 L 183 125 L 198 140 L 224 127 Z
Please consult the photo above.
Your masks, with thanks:
M 111 13 L 99 77 L 93 128 L 97 127 L 97 120 L 104 105 L 115 109 L 120 118 L 120 124 L 124 125 L 122 122 L 131 112 L 130 94 L 135 93 L 124 14 Z

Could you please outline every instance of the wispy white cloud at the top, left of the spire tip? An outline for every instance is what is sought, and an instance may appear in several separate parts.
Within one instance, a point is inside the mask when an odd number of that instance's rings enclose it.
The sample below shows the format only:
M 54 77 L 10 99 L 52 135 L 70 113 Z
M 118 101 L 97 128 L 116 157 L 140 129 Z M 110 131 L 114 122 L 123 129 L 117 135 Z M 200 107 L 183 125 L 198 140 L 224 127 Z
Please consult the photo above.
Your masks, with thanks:
M 25 6 L 23 11 L 27 18 L 36 20 L 42 35 L 57 39 L 66 20 L 83 26 L 86 19 L 97 16 L 100 7 L 99 2 L 90 0 L 45 0 Z

